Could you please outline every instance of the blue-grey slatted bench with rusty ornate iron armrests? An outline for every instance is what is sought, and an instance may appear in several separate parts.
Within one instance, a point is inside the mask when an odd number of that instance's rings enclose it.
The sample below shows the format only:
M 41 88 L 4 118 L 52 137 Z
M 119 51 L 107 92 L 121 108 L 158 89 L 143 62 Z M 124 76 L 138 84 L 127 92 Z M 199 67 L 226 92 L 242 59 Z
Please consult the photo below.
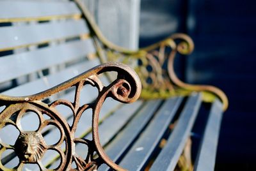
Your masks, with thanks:
M 1 170 L 214 170 L 227 98 L 175 75 L 185 34 L 131 51 L 78 0 L 3 0 L 0 40 Z

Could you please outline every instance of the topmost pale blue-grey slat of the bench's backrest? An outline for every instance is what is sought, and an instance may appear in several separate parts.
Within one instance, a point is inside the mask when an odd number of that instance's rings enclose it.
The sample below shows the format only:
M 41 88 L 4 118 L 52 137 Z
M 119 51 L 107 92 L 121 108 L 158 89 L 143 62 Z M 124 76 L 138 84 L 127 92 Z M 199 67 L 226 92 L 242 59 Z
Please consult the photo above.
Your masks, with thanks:
M 81 14 L 76 4 L 70 1 L 1 0 L 0 11 L 0 21 Z

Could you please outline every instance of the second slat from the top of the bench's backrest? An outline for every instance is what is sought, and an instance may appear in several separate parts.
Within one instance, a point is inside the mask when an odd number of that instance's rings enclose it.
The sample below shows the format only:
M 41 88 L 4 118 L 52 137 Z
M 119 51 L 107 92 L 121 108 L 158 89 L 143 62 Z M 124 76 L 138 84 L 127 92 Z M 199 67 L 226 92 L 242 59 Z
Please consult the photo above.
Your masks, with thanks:
M 0 50 L 26 47 L 52 40 L 64 40 L 88 33 L 89 30 L 84 20 L 60 20 L 33 25 L 0 27 Z

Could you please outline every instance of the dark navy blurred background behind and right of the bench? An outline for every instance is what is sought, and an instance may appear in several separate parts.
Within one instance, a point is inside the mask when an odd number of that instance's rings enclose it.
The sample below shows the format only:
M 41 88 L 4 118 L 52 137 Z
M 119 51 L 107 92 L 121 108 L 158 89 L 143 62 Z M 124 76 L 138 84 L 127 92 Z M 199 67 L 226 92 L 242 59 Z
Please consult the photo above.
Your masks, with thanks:
M 255 1 L 141 0 L 140 47 L 188 33 L 195 51 L 182 60 L 182 78 L 228 96 L 216 170 L 256 170 L 255 7 Z

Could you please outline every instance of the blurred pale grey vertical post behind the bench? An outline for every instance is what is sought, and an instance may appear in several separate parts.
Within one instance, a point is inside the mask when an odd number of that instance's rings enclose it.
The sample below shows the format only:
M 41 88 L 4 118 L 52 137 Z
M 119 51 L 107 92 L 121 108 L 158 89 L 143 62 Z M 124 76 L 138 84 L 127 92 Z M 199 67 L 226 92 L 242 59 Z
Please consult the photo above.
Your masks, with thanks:
M 109 41 L 138 49 L 140 0 L 83 0 Z

